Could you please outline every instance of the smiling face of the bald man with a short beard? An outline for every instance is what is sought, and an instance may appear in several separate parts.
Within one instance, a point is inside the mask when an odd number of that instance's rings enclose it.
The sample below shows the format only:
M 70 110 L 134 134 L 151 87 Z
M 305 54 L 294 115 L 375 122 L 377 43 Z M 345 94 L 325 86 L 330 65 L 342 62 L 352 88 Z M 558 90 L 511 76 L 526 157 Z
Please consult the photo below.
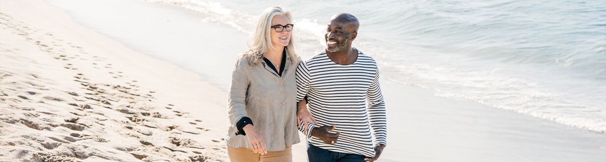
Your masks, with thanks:
M 328 23 L 324 41 L 326 41 L 326 50 L 329 52 L 341 52 L 351 46 L 351 30 L 345 22 L 333 19 Z

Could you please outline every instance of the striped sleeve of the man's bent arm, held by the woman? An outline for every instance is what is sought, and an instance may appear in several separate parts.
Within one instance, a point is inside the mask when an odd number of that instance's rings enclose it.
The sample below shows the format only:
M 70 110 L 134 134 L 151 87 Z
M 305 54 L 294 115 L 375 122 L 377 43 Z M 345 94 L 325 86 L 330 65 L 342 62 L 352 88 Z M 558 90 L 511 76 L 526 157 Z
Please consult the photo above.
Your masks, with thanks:
M 301 61 L 296 70 L 296 83 L 297 83 L 297 103 L 307 97 L 307 92 L 310 89 L 310 75 L 309 70 L 307 69 L 307 64 L 305 61 Z M 309 100 L 308 100 L 309 101 Z M 311 123 L 304 124 L 303 121 L 298 121 L 299 127 L 298 129 L 307 137 L 311 137 L 311 129 L 315 126 Z M 307 130 L 304 130 L 304 127 L 307 126 Z

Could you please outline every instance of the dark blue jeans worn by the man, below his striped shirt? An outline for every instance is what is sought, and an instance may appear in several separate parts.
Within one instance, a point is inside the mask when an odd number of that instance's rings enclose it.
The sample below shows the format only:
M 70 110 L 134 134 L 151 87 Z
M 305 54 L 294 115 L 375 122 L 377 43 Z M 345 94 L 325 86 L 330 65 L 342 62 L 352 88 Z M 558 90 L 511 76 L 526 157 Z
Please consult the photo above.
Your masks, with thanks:
M 310 162 L 365 162 L 364 158 L 362 155 L 334 152 L 307 143 L 307 160 Z

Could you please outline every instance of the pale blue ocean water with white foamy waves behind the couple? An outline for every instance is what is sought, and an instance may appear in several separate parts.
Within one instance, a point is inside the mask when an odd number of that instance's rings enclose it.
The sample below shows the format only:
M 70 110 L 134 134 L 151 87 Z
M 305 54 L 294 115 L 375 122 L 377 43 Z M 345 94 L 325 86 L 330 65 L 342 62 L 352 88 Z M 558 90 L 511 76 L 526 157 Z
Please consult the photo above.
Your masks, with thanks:
M 245 33 L 280 6 L 293 14 L 303 58 L 323 49 L 331 15 L 352 13 L 361 22 L 353 46 L 384 79 L 606 132 L 606 1 L 147 1 Z

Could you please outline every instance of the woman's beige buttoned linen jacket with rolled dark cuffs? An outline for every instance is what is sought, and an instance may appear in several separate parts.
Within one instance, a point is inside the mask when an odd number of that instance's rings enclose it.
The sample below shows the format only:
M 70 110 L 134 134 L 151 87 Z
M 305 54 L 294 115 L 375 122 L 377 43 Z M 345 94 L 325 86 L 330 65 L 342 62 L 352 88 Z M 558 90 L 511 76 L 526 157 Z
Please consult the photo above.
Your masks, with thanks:
M 265 61 L 256 65 L 249 64 L 245 57 L 236 61 L 228 94 L 227 146 L 250 149 L 248 138 L 236 135 L 236 123 L 244 116 L 253 121 L 268 151 L 299 143 L 295 71 L 301 58 L 286 55 L 285 61 L 282 77 Z

